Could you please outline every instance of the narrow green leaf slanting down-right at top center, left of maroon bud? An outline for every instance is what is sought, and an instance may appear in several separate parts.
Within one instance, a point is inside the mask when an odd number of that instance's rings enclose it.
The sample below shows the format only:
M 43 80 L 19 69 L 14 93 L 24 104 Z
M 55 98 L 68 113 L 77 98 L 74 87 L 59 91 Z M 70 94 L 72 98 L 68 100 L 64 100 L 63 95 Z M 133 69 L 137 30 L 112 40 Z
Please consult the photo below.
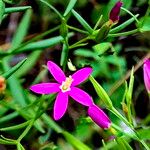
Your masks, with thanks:
M 76 19 L 81 23 L 81 25 L 90 33 L 93 33 L 93 29 L 90 27 L 90 25 L 75 11 L 72 10 L 73 15 L 76 17 Z

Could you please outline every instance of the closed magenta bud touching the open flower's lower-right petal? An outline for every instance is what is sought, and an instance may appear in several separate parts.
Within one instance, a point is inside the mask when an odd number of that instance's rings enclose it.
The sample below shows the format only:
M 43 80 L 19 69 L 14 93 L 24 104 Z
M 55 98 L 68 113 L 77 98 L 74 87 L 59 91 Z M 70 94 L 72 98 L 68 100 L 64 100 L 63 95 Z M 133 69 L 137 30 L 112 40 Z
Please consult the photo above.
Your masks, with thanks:
M 107 115 L 95 104 L 88 108 L 88 115 L 101 128 L 109 128 L 111 125 Z

